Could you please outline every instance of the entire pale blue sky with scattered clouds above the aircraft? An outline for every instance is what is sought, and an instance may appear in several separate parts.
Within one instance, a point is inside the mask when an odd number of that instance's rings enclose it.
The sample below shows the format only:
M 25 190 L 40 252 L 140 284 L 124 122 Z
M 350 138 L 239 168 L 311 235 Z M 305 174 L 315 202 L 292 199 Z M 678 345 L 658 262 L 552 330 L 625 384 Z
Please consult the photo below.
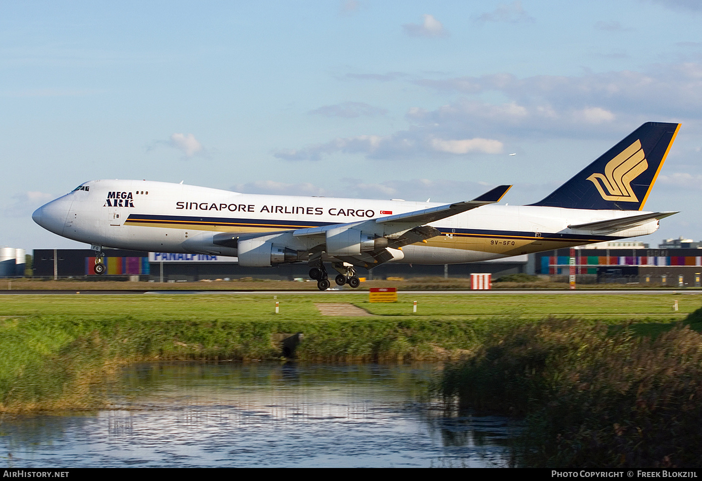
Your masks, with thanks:
M 702 239 L 702 3 L 12 1 L 0 245 L 98 178 L 256 194 L 541 200 L 645 121 L 681 122 L 647 210 Z M 514 154 L 510 156 L 509 154 Z

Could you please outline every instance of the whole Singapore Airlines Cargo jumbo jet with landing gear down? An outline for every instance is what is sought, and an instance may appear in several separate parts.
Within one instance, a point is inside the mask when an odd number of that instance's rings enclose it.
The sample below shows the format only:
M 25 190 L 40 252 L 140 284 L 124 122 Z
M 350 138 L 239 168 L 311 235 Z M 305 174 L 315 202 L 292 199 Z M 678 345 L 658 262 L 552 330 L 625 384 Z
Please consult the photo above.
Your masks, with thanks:
M 678 123 L 637 128 L 542 201 L 495 205 L 511 186 L 451 204 L 267 196 L 147 180 L 91 180 L 32 215 L 102 248 L 226 255 L 241 266 L 306 262 L 320 290 L 383 262 L 458 264 L 644 236 L 677 212 L 644 212 Z M 573 159 L 564 159 L 572 161 Z M 492 204 L 492 205 L 491 205 Z

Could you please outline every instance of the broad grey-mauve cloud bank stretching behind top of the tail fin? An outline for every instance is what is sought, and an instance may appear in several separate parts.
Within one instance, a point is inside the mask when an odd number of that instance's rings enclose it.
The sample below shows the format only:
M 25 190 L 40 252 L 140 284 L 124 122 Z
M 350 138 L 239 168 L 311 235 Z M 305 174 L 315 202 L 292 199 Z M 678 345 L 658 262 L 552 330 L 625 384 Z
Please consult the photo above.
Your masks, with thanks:
M 644 72 L 584 72 L 579 76 L 512 74 L 396 81 L 461 94 L 435 109 L 407 110 L 409 124 L 388 135 L 338 137 L 318 144 L 281 149 L 285 160 L 320 161 L 334 154 L 367 159 L 423 161 L 443 156 L 499 154 L 513 141 L 528 139 L 607 139 L 626 134 L 646 121 L 702 121 L 702 64 L 652 65 Z M 364 80 L 385 81 L 385 76 Z M 504 98 L 500 103 L 484 98 Z M 314 111 L 355 115 L 345 104 Z M 346 106 L 350 107 L 350 106 Z

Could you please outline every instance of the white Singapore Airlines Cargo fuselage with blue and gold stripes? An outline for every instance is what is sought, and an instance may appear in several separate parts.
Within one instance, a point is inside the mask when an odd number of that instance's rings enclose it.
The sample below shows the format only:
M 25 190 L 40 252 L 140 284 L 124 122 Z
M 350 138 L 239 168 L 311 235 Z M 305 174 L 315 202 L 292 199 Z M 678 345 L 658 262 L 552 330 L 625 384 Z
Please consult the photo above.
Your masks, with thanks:
M 292 231 L 432 208 L 439 203 L 239 194 L 145 180 L 94 180 L 37 209 L 44 228 L 92 245 L 152 252 L 237 255 L 217 233 Z M 654 232 L 651 220 L 603 235 L 569 225 L 640 211 L 484 205 L 432 222 L 442 235 L 406 245 L 397 262 L 451 264 L 540 252 Z

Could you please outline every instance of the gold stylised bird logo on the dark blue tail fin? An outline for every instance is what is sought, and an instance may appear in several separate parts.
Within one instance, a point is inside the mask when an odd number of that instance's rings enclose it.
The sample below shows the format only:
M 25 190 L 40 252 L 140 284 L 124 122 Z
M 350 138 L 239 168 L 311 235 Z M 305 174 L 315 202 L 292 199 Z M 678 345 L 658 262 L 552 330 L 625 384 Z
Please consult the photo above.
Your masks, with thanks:
M 607 162 L 604 174 L 592 174 L 588 180 L 595 184 L 605 201 L 638 202 L 639 199 L 631 189 L 631 182 L 647 168 L 649 163 L 646 161 L 646 154 L 641 148 L 640 140 L 637 140 Z

